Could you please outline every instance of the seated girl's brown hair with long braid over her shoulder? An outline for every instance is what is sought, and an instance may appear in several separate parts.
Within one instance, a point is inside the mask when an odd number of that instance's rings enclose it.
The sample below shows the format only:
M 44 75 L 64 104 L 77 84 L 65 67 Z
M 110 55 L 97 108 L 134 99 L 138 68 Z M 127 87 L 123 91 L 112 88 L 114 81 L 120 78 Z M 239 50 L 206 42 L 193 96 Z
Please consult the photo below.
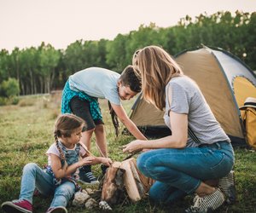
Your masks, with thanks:
M 67 161 L 65 155 L 59 146 L 58 137 L 70 137 L 74 130 L 78 129 L 84 124 L 84 120 L 73 114 L 62 114 L 55 122 L 55 143 L 61 155 L 61 168 L 67 168 Z M 62 164 L 64 162 L 64 164 Z

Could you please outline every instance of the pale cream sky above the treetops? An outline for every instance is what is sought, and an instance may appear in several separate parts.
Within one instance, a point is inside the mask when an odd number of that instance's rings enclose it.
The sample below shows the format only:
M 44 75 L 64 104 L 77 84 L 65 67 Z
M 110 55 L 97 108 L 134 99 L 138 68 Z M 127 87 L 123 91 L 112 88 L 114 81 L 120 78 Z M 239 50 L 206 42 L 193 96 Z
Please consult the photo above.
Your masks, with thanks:
M 189 14 L 256 11 L 256 0 L 0 0 L 0 49 L 66 49 L 76 40 L 113 40 L 140 25 L 175 26 Z

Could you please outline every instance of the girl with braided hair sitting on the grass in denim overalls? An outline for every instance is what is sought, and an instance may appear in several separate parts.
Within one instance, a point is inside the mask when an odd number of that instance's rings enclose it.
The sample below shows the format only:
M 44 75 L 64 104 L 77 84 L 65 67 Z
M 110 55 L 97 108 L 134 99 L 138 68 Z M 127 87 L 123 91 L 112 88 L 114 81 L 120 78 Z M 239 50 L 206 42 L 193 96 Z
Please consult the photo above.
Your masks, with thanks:
M 63 114 L 55 122 L 55 143 L 46 154 L 48 164 L 42 170 L 38 164 L 26 164 L 23 169 L 20 198 L 2 204 L 5 212 L 32 212 L 32 197 L 35 190 L 54 198 L 47 210 L 67 212 L 67 202 L 80 190 L 77 180 L 78 169 L 87 164 L 112 164 L 110 158 L 88 157 L 89 153 L 80 148 L 84 120 L 73 114 Z M 81 157 L 81 158 L 80 158 Z

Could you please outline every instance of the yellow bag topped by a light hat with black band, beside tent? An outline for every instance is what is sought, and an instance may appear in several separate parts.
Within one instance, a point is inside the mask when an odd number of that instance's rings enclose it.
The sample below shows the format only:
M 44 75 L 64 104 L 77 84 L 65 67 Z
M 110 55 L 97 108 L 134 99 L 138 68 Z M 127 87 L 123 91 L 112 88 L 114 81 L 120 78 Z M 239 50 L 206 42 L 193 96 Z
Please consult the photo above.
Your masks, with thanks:
M 247 144 L 256 149 L 256 98 L 247 98 L 240 110 L 246 131 Z

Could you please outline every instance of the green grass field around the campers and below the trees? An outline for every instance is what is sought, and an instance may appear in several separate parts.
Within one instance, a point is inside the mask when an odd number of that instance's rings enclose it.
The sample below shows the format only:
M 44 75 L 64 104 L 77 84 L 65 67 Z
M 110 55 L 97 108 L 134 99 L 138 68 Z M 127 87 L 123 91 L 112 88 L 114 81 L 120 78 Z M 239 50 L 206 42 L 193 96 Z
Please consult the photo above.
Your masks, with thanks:
M 22 168 L 29 162 L 41 166 L 47 163 L 45 151 L 53 143 L 53 126 L 60 113 L 60 95 L 38 95 L 20 98 L 19 105 L 0 107 L 0 203 L 18 199 Z M 132 101 L 124 103 L 129 112 Z M 113 124 L 108 112 L 107 101 L 101 101 L 105 122 L 109 157 L 120 161 L 126 157 L 122 145 L 132 140 L 131 136 L 114 135 Z M 98 155 L 95 139 L 92 153 Z M 224 205 L 216 212 L 256 212 L 256 153 L 247 149 L 236 149 L 236 193 L 237 202 Z M 99 166 L 93 167 L 96 175 Z M 86 186 L 83 186 L 86 187 Z M 154 206 L 143 199 L 135 204 L 125 203 L 113 207 L 113 212 L 183 212 L 192 197 L 172 206 Z M 34 212 L 45 212 L 51 198 L 35 198 Z M 99 212 L 100 210 L 78 209 L 68 206 L 69 212 Z

